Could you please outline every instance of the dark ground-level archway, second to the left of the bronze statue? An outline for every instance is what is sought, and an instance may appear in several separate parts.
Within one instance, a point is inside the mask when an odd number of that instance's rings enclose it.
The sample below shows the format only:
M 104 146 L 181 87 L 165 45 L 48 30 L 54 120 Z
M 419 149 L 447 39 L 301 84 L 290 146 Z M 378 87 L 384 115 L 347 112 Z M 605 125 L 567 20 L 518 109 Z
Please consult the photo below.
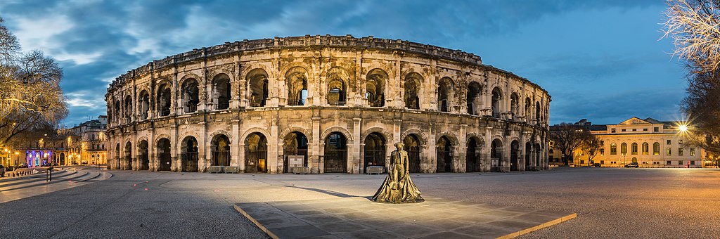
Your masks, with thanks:
M 325 173 L 347 173 L 348 147 L 345 135 L 333 132 L 325 138 Z

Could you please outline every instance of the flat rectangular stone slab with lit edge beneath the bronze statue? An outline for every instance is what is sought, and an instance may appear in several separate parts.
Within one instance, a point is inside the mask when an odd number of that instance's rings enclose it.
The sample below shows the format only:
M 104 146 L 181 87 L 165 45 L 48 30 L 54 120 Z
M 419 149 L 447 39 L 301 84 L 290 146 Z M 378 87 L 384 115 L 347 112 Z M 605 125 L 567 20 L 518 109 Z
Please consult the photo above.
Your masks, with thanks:
M 433 198 L 418 204 L 366 197 L 251 202 L 235 209 L 271 238 L 514 238 L 577 216 Z

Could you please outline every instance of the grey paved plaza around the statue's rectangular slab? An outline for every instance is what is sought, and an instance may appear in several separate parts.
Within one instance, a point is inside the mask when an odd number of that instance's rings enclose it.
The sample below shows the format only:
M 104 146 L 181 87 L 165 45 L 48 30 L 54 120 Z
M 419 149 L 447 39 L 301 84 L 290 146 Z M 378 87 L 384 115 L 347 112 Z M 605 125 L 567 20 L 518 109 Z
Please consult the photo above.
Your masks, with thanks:
M 346 174 L 104 172 L 112 177 L 0 203 L 0 238 L 268 238 L 234 208 L 236 204 L 362 199 L 372 196 L 384 179 Z M 520 238 L 720 237 L 716 169 L 556 168 L 412 176 L 428 207 L 451 202 L 527 210 L 522 213 L 577 213 L 572 220 Z M 0 196 L 4 195 L 0 186 Z

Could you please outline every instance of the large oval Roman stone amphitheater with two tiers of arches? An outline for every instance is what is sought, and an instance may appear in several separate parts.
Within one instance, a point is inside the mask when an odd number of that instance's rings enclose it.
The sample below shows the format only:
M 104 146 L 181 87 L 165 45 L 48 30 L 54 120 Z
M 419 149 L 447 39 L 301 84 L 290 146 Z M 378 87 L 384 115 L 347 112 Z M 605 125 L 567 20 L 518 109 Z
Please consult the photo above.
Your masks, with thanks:
M 366 173 L 400 141 L 412 172 L 548 165 L 547 91 L 405 40 L 225 42 L 128 71 L 106 100 L 113 169 Z

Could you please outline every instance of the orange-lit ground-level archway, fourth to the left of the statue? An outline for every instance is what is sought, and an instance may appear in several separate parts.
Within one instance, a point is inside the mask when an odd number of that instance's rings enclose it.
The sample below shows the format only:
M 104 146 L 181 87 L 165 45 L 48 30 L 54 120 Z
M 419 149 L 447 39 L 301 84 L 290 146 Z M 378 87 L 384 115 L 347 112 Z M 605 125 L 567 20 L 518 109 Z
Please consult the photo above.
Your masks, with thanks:
M 268 170 L 268 140 L 265 135 L 253 132 L 245 140 L 245 172 L 265 173 Z

